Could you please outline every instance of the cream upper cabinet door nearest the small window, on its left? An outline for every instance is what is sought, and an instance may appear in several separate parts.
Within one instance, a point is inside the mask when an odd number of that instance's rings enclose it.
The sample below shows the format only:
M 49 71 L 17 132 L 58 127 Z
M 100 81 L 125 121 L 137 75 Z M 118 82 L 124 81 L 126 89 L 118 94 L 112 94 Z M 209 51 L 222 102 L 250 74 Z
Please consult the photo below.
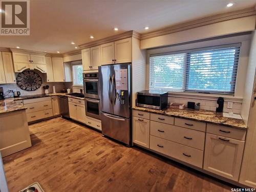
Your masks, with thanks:
M 55 82 L 65 81 L 64 64 L 62 57 L 52 57 L 52 68 Z

